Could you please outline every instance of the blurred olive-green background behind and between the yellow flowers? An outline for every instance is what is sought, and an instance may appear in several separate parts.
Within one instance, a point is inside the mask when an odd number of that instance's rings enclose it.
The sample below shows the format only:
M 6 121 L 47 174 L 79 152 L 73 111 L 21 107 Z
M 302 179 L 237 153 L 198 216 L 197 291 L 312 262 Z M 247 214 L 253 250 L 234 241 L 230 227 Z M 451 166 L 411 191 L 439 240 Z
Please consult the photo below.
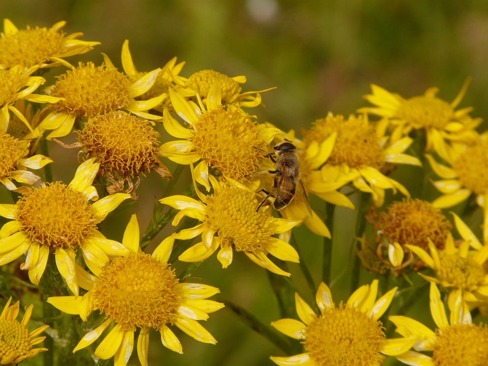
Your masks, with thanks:
M 49 27 L 66 20 L 67 34 L 83 32 L 82 40 L 102 43 L 92 52 L 69 58 L 75 65 L 78 60 L 101 64 L 100 52 L 105 52 L 120 67 L 121 46 L 128 39 L 138 71 L 161 67 L 177 56 L 178 61 L 186 62 L 182 76 L 214 69 L 229 76 L 246 75 L 244 91 L 277 86 L 263 94 L 266 108 L 248 111 L 256 114 L 259 122 L 269 121 L 284 130 L 308 128 L 328 111 L 353 113 L 367 104 L 361 97 L 370 92 L 371 83 L 406 98 L 437 86 L 438 96 L 451 102 L 471 76 L 460 108 L 473 106 L 472 116 L 484 120 L 488 115 L 485 0 L 2 0 L 0 15 L 19 29 L 26 25 Z M 56 179 L 71 180 L 77 167 L 76 153 L 52 147 Z M 178 189 L 183 191 L 187 183 Z M 104 222 L 105 230 L 115 228 L 113 235 L 107 236 L 120 239 L 133 212 L 138 212 L 143 230 L 164 184 L 149 175 L 138 189 L 139 201 L 125 205 L 120 214 Z M 341 278 L 351 263 L 352 230 L 348 234 L 346 225 L 354 228 L 354 212 L 345 211 L 344 215 L 341 227 L 345 244 L 333 249 L 332 279 Z M 321 239 L 311 237 L 303 227 L 299 239 L 302 259 L 310 265 L 318 284 Z M 300 288 L 299 267 L 289 265 L 289 270 Z M 266 271 L 244 256 L 237 255 L 226 270 L 212 257 L 195 277 L 195 281 L 201 278 L 203 283 L 221 289 L 216 299 L 231 299 L 263 323 L 280 318 Z M 361 284 L 370 281 L 371 277 L 363 276 Z M 334 300 L 347 299 L 349 289 L 341 289 L 338 281 L 334 283 Z M 304 286 L 302 295 L 309 303 L 313 301 Z M 423 309 L 427 298 L 419 299 Z M 281 355 L 228 309 L 212 314 L 204 326 L 218 345 L 200 344 L 179 332 L 182 356 L 164 349 L 158 334 L 151 333 L 149 364 L 264 366 L 273 364 L 270 355 Z M 138 364 L 137 358 L 133 357 L 130 364 Z

